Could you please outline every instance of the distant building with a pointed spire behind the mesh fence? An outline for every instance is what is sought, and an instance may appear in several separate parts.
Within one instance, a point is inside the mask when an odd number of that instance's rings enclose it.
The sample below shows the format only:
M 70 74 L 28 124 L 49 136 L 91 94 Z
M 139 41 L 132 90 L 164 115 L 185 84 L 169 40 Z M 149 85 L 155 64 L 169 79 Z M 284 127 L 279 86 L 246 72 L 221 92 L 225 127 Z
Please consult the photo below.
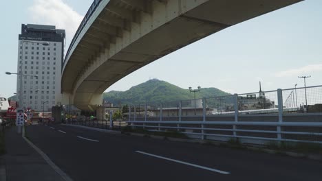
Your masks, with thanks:
M 258 97 L 256 94 L 246 95 L 246 97 L 239 96 L 239 110 L 257 110 L 275 108 L 275 102 L 266 99 L 265 93 L 261 90 L 261 82 L 259 82 Z

